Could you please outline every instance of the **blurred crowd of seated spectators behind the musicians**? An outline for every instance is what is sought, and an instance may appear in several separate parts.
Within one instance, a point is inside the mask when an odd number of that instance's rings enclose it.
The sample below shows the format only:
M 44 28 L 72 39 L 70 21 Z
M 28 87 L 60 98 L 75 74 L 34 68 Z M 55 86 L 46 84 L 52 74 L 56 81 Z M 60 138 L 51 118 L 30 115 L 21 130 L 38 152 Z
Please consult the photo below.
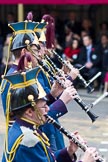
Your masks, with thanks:
M 1 75 L 4 72 L 8 57 L 8 46 L 11 29 L 8 24 L 15 22 L 14 14 L 7 15 L 7 22 L 1 23 L 0 28 L 0 66 Z M 99 24 L 99 31 L 93 26 L 90 19 L 77 21 L 75 12 L 70 12 L 66 20 L 55 17 L 55 50 L 66 60 L 69 60 L 76 68 L 85 65 L 80 71 L 81 75 L 89 80 L 97 72 L 102 71 L 102 75 L 97 79 L 96 88 L 108 91 L 108 23 L 106 21 Z M 53 61 L 58 67 L 59 62 L 53 56 Z M 9 58 L 8 67 L 12 64 L 14 57 Z

